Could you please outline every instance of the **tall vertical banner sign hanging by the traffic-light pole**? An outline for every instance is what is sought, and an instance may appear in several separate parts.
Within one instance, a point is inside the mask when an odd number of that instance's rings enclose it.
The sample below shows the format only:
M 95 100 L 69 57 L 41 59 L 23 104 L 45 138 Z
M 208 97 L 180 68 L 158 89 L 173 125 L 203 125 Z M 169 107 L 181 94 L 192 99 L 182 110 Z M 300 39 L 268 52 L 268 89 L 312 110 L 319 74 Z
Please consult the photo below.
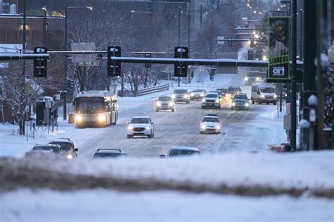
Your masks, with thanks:
M 290 82 L 290 19 L 268 18 L 267 82 Z

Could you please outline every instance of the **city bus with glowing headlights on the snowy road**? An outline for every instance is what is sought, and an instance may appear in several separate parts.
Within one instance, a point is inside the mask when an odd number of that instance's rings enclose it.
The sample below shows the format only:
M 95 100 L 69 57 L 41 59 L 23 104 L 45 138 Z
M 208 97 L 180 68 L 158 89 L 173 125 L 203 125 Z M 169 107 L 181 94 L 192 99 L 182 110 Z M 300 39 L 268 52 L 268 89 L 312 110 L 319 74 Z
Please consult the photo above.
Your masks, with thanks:
M 75 128 L 106 127 L 117 122 L 117 95 L 109 91 L 80 92 L 74 106 Z

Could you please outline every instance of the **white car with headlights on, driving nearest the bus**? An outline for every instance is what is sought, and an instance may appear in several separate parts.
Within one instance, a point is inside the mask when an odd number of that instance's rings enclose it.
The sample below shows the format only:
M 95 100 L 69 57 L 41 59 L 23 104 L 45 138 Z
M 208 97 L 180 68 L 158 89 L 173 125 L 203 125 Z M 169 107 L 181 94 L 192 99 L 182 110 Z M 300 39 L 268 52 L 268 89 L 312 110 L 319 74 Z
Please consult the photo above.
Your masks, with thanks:
M 128 123 L 128 138 L 134 136 L 154 137 L 154 123 L 149 116 L 134 116 Z

